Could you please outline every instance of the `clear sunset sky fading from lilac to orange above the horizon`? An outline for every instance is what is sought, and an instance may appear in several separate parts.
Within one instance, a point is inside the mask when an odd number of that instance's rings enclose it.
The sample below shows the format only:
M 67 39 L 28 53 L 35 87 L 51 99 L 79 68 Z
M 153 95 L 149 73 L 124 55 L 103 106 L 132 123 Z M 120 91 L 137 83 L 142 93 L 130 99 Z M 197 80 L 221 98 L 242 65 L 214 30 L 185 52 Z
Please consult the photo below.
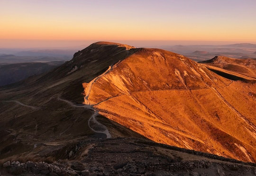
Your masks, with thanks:
M 0 47 L 256 44 L 256 0 L 0 0 Z

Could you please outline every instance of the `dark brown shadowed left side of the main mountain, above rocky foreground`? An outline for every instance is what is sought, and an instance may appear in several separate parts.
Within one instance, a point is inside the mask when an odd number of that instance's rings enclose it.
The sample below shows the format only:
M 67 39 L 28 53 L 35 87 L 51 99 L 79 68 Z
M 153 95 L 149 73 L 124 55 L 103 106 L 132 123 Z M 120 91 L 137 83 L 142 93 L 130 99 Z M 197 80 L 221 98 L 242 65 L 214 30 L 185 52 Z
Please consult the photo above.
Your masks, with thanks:
M 90 82 L 137 50 L 118 44 L 91 44 L 55 70 L 1 87 L 0 133 L 5 135 L 0 135 L 0 159 L 21 156 L 24 152 L 33 158 L 39 148 L 47 153 L 45 146 L 58 148 L 70 141 L 105 137 L 91 130 L 99 126 L 94 119 L 104 117 L 90 107 L 79 105 L 83 102 L 82 83 Z M 136 134 L 115 124 L 108 121 L 109 126 L 117 128 L 112 130 L 113 137 Z M 34 150 L 37 144 L 44 145 Z

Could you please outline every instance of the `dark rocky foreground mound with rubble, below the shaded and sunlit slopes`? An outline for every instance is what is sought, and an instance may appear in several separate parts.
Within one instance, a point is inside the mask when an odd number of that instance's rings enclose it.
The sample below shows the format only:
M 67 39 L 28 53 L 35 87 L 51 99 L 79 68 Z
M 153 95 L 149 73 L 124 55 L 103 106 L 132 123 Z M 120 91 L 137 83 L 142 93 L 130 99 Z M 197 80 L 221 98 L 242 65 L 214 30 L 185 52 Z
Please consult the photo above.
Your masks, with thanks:
M 243 163 L 136 138 L 79 142 L 58 162 L 3 163 L 0 175 L 41 176 L 252 176 L 256 164 Z

